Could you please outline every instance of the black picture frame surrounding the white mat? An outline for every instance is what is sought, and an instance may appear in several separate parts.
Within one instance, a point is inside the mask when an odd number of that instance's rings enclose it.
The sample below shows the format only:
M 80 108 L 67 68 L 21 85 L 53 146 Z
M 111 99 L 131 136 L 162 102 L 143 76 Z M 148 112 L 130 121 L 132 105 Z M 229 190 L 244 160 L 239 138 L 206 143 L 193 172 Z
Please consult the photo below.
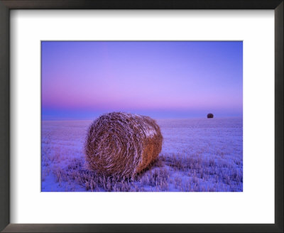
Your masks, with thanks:
M 0 0 L 0 230 L 3 232 L 283 232 L 283 8 L 283 0 Z M 10 224 L 9 21 L 12 9 L 273 9 L 275 11 L 275 224 Z

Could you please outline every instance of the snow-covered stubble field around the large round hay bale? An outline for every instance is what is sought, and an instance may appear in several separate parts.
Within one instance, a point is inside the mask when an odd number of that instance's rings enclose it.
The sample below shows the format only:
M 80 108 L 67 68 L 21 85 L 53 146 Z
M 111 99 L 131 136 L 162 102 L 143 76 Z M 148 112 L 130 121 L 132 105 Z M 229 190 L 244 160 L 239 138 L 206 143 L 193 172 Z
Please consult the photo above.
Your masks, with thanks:
M 42 121 L 43 192 L 243 190 L 243 119 L 157 120 L 163 148 L 134 180 L 112 180 L 84 169 L 84 139 L 92 121 Z

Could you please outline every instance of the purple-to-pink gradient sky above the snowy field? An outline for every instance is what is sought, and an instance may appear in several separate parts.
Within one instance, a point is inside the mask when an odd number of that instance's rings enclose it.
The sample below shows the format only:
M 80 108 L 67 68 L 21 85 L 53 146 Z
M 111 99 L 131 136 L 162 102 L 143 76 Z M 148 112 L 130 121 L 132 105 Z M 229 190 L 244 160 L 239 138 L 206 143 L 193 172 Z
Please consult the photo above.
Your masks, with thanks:
M 43 41 L 42 119 L 242 116 L 242 42 Z

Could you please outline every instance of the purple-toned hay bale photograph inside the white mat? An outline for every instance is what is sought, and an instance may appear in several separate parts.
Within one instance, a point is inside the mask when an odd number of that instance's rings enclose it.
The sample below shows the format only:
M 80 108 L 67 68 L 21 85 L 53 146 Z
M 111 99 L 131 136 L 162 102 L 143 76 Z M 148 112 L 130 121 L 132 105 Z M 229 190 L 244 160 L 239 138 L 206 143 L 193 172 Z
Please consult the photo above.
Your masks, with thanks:
M 242 192 L 242 52 L 41 41 L 41 192 Z

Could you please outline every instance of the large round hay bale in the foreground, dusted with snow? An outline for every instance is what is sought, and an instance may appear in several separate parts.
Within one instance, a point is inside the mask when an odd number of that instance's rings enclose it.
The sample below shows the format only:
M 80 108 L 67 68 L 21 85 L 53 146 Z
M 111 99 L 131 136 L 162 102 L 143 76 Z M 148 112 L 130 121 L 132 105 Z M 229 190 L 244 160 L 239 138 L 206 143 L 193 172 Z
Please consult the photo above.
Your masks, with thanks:
M 148 116 L 112 112 L 89 126 L 86 166 L 107 175 L 133 176 L 158 157 L 163 136 Z

